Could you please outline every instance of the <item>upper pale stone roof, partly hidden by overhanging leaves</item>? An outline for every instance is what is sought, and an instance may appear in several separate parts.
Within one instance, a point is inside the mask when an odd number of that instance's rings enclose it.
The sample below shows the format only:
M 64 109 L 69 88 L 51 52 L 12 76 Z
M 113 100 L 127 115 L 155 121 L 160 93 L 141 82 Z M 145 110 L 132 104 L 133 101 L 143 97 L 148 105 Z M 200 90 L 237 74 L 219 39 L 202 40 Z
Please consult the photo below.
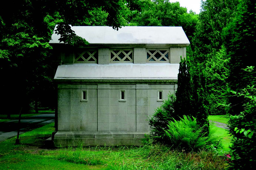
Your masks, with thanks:
M 190 44 L 182 27 L 125 26 L 117 31 L 108 26 L 73 26 L 71 29 L 90 44 Z M 49 43 L 60 43 L 59 38 L 54 32 Z

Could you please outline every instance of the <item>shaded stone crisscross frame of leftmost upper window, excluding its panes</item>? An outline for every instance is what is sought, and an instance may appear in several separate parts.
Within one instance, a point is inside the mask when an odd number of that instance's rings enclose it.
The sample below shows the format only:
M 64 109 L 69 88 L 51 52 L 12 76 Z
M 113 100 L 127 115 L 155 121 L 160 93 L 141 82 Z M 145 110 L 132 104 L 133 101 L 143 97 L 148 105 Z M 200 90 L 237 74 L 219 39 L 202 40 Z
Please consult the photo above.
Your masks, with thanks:
M 81 50 L 81 51 L 83 51 L 82 53 L 79 53 L 79 52 L 76 52 L 76 50 Z M 75 50 L 75 52 L 74 52 L 74 63 L 98 63 L 98 57 L 99 57 L 99 55 L 98 55 L 98 49 L 97 48 L 77 48 Z M 90 51 L 94 51 L 93 53 L 91 53 Z M 79 57 L 76 57 L 76 55 L 77 55 L 77 53 L 79 54 Z M 86 58 L 84 58 L 83 57 L 83 55 L 85 54 L 85 53 L 87 53 L 88 55 L 89 55 L 89 57 L 86 59 Z M 97 55 L 97 57 L 96 56 L 94 56 L 94 55 Z M 79 58 L 81 58 L 82 57 L 82 59 L 83 60 L 85 60 L 85 61 L 77 61 Z M 91 59 L 91 58 L 93 58 L 94 59 L 94 61 L 88 61 L 89 59 Z

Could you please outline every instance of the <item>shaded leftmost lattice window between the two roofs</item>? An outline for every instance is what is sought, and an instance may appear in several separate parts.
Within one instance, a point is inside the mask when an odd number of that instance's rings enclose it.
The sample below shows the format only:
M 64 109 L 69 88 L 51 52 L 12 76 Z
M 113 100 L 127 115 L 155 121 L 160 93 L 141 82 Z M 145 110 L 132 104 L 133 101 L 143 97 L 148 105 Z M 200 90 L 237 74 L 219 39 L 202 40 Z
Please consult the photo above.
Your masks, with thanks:
M 79 49 L 75 53 L 75 63 L 97 63 L 98 50 Z

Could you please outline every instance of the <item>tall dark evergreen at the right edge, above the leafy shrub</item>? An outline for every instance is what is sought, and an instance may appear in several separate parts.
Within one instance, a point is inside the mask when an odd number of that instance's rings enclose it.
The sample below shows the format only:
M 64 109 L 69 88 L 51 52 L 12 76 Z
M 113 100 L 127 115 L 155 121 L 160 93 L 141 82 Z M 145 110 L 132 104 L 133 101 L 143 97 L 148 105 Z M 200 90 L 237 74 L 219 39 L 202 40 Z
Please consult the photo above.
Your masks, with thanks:
M 243 72 L 246 66 L 255 66 L 255 30 L 256 12 L 255 1 L 239 1 L 237 15 L 233 22 L 225 30 L 226 47 L 230 54 L 230 76 L 229 87 L 238 91 L 246 85 L 253 85 L 251 82 L 256 77 L 256 71 Z M 239 113 L 243 110 L 243 98 L 230 97 L 231 113 Z

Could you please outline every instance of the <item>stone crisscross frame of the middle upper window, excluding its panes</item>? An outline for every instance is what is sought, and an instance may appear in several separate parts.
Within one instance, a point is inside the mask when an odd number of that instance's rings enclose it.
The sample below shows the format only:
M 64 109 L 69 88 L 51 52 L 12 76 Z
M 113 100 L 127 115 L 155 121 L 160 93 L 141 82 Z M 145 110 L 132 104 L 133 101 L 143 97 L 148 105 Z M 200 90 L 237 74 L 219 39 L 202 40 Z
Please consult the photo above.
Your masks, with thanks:
M 130 50 L 129 53 L 126 53 L 124 51 Z M 109 55 L 109 63 L 133 63 L 134 55 L 133 55 L 133 48 L 110 48 L 110 55 Z M 119 51 L 118 53 L 115 53 L 114 51 Z M 118 55 L 120 53 L 123 53 L 125 57 L 123 59 L 119 58 Z M 132 53 L 132 58 L 129 57 L 129 55 Z M 114 55 L 114 57 L 111 59 L 111 55 Z M 121 61 L 113 61 L 115 58 L 120 59 Z M 126 58 L 131 59 L 131 61 L 124 61 Z

